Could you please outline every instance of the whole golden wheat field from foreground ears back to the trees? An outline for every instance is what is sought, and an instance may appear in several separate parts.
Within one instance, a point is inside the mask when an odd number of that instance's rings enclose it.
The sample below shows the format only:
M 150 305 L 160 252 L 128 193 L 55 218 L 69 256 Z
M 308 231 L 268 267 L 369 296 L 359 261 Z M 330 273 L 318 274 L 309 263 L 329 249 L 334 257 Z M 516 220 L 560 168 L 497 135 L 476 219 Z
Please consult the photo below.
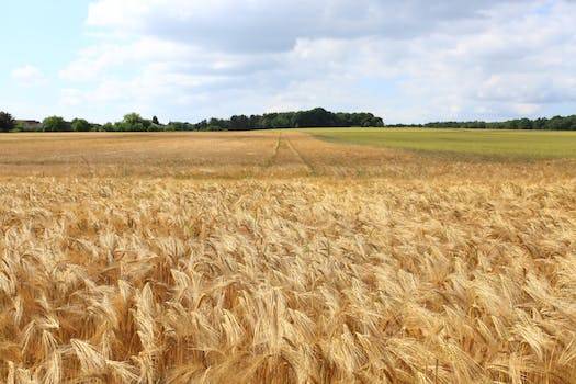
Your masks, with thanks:
M 0 140 L 1 382 L 576 382 L 574 160 L 219 135 Z

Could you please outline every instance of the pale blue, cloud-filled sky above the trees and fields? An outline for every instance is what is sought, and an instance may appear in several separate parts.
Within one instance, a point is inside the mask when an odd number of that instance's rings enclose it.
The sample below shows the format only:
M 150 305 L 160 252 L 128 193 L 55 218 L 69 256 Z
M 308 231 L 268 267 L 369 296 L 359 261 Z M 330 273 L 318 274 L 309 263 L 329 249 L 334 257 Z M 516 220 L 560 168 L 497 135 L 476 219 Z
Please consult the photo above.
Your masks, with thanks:
M 386 123 L 576 114 L 576 0 L 2 3 L 0 110 L 104 123 L 324 106 Z

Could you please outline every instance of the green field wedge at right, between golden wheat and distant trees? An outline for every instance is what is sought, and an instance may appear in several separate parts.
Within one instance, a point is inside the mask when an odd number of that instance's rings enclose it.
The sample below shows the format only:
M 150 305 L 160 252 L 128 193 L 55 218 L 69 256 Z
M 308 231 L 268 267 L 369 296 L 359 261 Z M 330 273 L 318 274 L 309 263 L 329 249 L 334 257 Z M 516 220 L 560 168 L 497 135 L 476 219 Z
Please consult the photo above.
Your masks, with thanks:
M 308 128 L 320 139 L 489 157 L 576 158 L 576 132 Z

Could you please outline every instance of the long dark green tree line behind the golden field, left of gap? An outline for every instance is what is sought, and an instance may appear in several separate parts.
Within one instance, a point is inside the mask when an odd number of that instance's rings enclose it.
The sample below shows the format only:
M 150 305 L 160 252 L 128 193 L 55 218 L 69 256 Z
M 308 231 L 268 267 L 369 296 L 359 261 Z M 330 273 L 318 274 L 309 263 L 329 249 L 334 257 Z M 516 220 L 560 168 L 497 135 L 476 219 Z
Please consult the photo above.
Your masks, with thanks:
M 68 122 L 59 116 L 46 117 L 35 127 L 15 121 L 10 114 L 0 114 L 0 132 L 170 132 L 170 131 L 249 131 L 298 127 L 382 127 L 382 117 L 372 113 L 334 113 L 317 108 L 310 111 L 267 113 L 263 115 L 235 115 L 230 118 L 211 118 L 199 123 L 170 122 L 161 124 L 156 116 L 144 118 L 129 113 L 120 122 L 103 125 L 89 123 L 83 118 Z

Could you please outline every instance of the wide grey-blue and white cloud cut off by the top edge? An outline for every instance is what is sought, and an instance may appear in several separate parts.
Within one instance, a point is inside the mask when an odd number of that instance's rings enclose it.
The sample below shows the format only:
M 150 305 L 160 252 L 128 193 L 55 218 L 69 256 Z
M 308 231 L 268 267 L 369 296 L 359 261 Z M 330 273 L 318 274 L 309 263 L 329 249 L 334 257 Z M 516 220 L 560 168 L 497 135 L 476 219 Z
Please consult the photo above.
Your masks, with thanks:
M 88 24 L 226 52 L 283 52 L 298 38 L 407 38 L 465 21 L 496 0 L 98 0 Z

